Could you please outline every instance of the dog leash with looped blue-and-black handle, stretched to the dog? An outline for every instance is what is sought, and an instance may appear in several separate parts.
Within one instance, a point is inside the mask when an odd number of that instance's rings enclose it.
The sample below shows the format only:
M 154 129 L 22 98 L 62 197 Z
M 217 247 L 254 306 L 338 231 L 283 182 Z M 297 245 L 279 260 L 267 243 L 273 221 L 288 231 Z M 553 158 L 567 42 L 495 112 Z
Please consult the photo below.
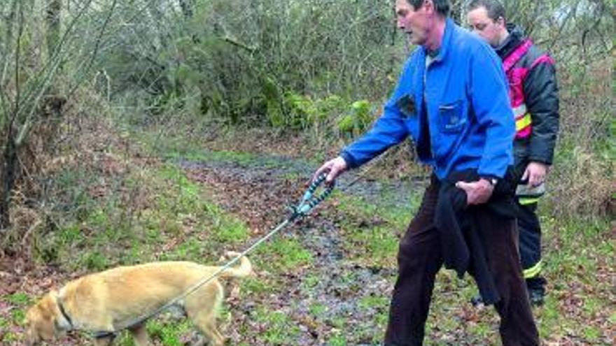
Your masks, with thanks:
M 120 331 L 123 331 L 125 329 L 130 329 L 134 326 L 138 326 L 139 324 L 144 323 L 147 319 L 151 319 L 152 317 L 155 317 L 156 315 L 160 314 L 164 310 L 171 308 L 173 305 L 176 305 L 177 303 L 179 303 L 179 301 L 186 298 L 186 296 L 192 294 L 194 291 L 202 287 L 204 284 L 207 284 L 211 280 L 214 280 L 214 278 L 218 277 L 218 275 L 223 273 L 223 271 L 227 270 L 233 264 L 239 261 L 241 257 L 246 256 L 246 254 L 255 250 L 255 248 L 257 248 L 259 245 L 261 245 L 262 243 L 265 243 L 269 238 L 272 238 L 272 236 L 274 236 L 276 233 L 281 231 L 281 229 L 285 228 L 288 224 L 291 224 L 299 219 L 302 219 L 302 217 L 305 217 L 306 215 L 308 215 L 316 206 L 318 206 L 319 203 L 324 201 L 326 198 L 328 198 L 328 196 L 330 196 L 330 194 L 332 194 L 332 191 L 334 189 L 333 183 L 324 187 L 321 191 L 317 192 L 319 185 L 321 185 L 325 181 L 326 177 L 327 177 L 327 173 L 322 173 L 314 181 L 312 181 L 307 191 L 304 192 L 304 195 L 302 196 L 302 199 L 300 200 L 300 202 L 297 203 L 296 206 L 290 206 L 291 213 L 283 222 L 281 222 L 278 226 L 276 226 L 272 231 L 267 233 L 265 236 L 257 240 L 253 245 L 251 245 L 251 247 L 248 247 L 248 249 L 244 250 L 244 252 L 241 252 L 240 254 L 238 254 L 237 257 L 235 257 L 234 259 L 231 259 L 230 261 L 228 261 L 227 264 L 218 268 L 216 272 L 214 272 L 213 274 L 207 277 L 204 277 L 202 280 L 200 280 L 196 284 L 193 284 L 193 286 L 191 286 L 189 289 L 184 291 L 183 294 L 176 296 L 171 301 L 165 303 L 165 305 L 160 306 L 160 308 L 157 308 L 153 312 L 141 315 L 135 319 L 130 320 L 130 322 L 120 324 L 120 326 L 118 326 L 118 328 L 116 328 L 116 330 L 114 331 L 98 331 L 94 333 L 94 338 L 106 338 L 108 336 L 116 335 L 116 333 Z

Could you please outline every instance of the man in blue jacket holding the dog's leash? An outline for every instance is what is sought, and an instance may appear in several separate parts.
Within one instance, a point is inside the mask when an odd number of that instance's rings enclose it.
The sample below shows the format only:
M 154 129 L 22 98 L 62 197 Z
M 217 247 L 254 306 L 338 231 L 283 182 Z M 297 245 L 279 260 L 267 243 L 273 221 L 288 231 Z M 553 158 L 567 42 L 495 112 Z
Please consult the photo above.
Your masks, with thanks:
M 448 17 L 447 0 L 397 0 L 398 27 L 418 45 L 384 113 L 315 173 L 332 182 L 411 136 L 433 168 L 400 240 L 385 345 L 422 345 L 435 275 L 444 264 L 475 277 L 500 315 L 504 346 L 538 346 L 517 252 L 514 117 L 500 59 Z

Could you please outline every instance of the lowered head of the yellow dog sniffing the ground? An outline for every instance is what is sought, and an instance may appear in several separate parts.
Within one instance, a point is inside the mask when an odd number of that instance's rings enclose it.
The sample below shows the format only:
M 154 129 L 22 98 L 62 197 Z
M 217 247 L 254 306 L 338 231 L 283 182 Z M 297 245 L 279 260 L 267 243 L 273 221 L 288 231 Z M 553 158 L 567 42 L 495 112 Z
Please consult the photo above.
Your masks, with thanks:
M 56 297 L 57 292 L 51 291 L 28 309 L 25 319 L 27 346 L 52 340 L 61 331 L 59 314 L 62 312 L 59 311 Z

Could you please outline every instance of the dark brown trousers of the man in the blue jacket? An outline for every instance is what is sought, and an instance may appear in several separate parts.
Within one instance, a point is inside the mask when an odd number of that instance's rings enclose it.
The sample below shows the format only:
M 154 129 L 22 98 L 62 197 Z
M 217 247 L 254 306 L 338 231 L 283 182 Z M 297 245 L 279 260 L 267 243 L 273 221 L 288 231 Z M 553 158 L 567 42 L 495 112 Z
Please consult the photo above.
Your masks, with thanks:
M 398 251 L 395 282 L 385 345 L 421 346 L 436 273 L 442 266 L 440 236 L 434 224 L 439 187 L 431 182 L 419 211 L 412 219 Z M 489 244 L 486 257 L 500 295 L 495 308 L 500 315 L 503 346 L 538 346 L 538 331 L 522 277 L 515 220 L 489 212 L 479 215 L 481 236 Z

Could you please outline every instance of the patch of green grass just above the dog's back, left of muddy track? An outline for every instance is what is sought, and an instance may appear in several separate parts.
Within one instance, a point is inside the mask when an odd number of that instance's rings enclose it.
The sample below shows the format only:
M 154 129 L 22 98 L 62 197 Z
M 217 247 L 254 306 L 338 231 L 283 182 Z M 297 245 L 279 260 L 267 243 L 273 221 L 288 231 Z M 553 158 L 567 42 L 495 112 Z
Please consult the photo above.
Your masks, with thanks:
M 124 178 L 128 186 L 140 184 L 153 194 L 146 208 L 129 214 L 117 196 L 86 203 L 80 222 L 69 222 L 43 239 L 41 260 L 68 271 L 101 271 L 155 259 L 216 261 L 222 254 L 214 251 L 217 243 L 242 245 L 248 239 L 244 222 L 208 201 L 202 187 L 173 165 L 135 169 Z M 78 185 L 75 179 L 62 183 Z M 168 242 L 176 245 L 154 258 L 155 247 Z

